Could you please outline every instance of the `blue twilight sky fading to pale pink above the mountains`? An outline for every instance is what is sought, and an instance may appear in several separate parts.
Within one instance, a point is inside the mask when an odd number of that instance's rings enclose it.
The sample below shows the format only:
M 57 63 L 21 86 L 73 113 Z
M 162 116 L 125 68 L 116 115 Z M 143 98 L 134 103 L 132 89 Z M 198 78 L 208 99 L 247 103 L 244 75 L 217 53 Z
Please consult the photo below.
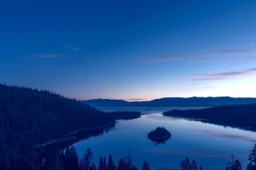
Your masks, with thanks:
M 0 83 L 78 100 L 256 97 L 256 1 L 2 1 Z

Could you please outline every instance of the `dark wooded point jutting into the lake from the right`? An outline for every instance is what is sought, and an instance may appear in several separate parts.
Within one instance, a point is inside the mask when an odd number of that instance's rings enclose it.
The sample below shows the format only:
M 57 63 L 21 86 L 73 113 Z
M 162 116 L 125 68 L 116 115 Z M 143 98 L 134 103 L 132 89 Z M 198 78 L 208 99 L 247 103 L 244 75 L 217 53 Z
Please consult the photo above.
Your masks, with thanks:
M 209 107 L 201 110 L 170 110 L 164 112 L 164 116 L 186 117 L 256 131 L 256 104 Z

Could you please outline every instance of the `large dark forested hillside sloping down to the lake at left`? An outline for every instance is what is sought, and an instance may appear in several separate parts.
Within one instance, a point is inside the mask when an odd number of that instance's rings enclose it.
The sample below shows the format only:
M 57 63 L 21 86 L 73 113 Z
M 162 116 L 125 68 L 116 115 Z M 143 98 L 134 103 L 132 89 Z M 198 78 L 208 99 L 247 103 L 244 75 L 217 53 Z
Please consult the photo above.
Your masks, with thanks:
M 0 84 L 0 169 L 26 169 L 36 145 L 81 129 L 114 125 L 114 115 L 47 90 Z

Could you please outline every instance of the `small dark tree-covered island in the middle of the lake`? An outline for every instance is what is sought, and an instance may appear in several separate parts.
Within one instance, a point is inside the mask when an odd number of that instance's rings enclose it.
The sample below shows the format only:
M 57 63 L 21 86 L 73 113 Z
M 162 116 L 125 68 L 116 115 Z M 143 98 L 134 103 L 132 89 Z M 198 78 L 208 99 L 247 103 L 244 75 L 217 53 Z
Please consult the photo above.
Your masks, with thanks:
M 157 127 L 154 131 L 150 131 L 147 134 L 147 138 L 157 144 L 164 144 L 169 138 L 171 138 L 171 133 L 167 131 L 164 127 Z

